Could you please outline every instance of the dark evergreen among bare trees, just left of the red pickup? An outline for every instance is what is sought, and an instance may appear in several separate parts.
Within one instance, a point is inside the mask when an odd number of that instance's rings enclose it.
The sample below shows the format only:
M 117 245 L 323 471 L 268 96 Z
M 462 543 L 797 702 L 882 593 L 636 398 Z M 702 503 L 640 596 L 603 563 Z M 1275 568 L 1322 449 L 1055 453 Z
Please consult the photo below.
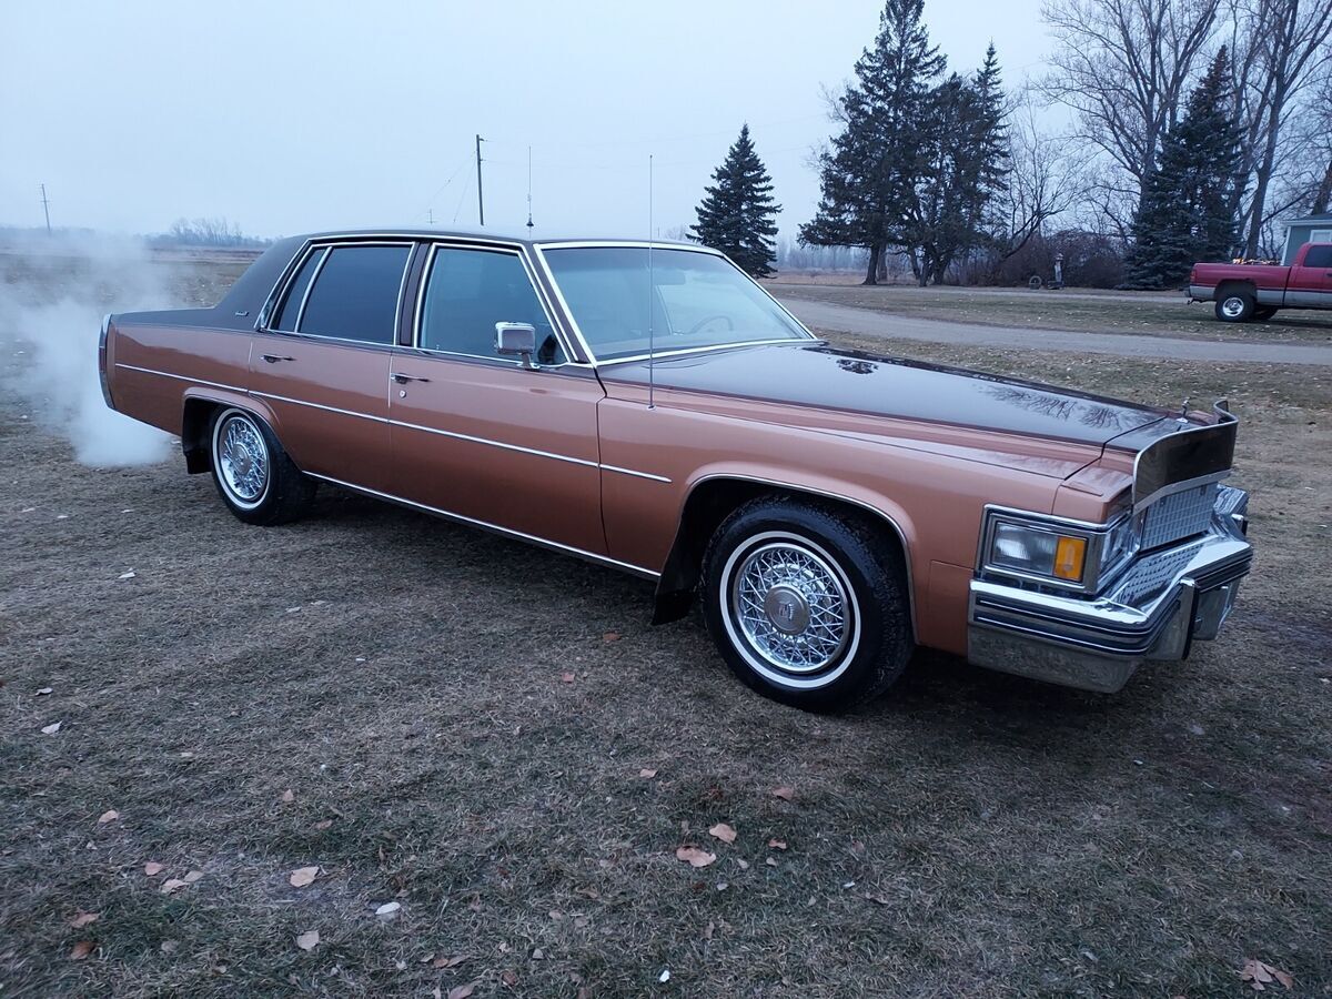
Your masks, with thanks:
M 1177 288 L 1196 261 L 1225 258 L 1235 245 L 1240 131 L 1228 76 L 1221 47 L 1162 143 L 1134 217 L 1126 288 Z

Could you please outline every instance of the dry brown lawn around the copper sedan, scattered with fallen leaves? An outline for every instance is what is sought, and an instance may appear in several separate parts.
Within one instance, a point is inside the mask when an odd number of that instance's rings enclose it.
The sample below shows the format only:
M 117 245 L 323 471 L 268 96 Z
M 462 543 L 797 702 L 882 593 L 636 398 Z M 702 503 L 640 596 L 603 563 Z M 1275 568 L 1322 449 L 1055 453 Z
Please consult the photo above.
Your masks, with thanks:
M 1221 639 L 1114 697 L 920 653 L 801 714 L 647 583 L 334 490 L 248 527 L 7 392 L 0 995 L 1332 995 L 1328 380 L 887 346 L 1229 394 Z

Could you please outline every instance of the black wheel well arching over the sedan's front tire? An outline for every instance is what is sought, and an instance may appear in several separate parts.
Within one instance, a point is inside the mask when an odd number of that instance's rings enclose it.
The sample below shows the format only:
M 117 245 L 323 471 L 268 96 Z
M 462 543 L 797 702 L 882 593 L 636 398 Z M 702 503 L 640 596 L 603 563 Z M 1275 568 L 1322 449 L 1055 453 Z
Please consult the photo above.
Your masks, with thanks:
M 855 517 L 890 538 L 891 543 L 898 546 L 903 565 L 907 565 L 906 543 L 898 525 L 867 506 L 797 486 L 745 478 L 709 478 L 694 486 L 685 501 L 685 509 L 681 511 L 679 526 L 675 529 L 675 543 L 671 545 L 666 566 L 657 582 L 654 625 L 678 621 L 689 613 L 694 602 L 694 589 L 703 569 L 703 553 L 707 550 L 707 542 L 717 533 L 722 521 L 734 510 L 761 497 L 806 500 L 825 509 L 834 509 L 838 513 Z M 910 582 L 908 567 L 908 587 Z

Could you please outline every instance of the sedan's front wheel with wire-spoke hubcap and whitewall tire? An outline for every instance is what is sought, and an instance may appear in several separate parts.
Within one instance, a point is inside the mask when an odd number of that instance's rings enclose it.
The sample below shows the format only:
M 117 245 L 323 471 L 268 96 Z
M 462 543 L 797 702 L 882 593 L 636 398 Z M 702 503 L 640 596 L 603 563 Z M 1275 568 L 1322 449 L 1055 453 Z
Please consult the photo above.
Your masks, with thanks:
M 703 561 L 703 613 L 731 671 L 775 701 L 835 711 L 902 675 L 911 655 L 896 538 L 817 502 L 746 503 Z

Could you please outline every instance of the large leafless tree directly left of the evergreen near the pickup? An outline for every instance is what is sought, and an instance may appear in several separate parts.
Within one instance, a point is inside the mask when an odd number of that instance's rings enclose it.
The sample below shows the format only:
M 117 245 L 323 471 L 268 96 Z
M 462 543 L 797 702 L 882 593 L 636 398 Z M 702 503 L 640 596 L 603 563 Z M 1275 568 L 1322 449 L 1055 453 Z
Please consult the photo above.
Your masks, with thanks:
M 1240 1 L 1240 0 L 1236 0 Z M 1252 0 L 1275 3 L 1276 0 Z M 1102 210 L 1120 232 L 1156 165 L 1195 64 L 1207 55 L 1221 0 L 1047 0 L 1042 17 L 1056 49 L 1039 84 L 1075 112 L 1078 139 L 1114 164 L 1098 185 Z

